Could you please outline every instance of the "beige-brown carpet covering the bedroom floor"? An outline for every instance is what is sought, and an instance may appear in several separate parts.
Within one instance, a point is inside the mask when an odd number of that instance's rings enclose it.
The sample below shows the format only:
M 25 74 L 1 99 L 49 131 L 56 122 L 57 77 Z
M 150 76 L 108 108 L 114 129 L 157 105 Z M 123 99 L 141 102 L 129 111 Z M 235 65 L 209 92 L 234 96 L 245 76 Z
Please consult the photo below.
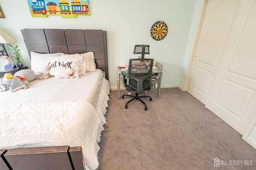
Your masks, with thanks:
M 125 109 L 129 98 L 110 92 L 97 170 L 256 169 L 256 150 L 196 98 L 178 88 L 162 88 L 160 98 L 156 90 L 147 94 L 153 101 L 143 99 L 145 111 L 136 100 Z M 229 165 L 233 160 L 242 165 Z

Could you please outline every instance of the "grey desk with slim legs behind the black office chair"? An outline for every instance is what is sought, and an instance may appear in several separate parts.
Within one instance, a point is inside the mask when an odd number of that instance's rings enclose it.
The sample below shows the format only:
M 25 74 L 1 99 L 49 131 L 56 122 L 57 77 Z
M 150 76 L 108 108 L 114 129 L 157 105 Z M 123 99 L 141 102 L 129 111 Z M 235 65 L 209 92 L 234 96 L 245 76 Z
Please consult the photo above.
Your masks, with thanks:
M 138 72 L 142 71 L 142 70 L 140 70 L 140 69 L 145 70 L 146 68 L 138 68 L 138 69 L 136 68 L 136 70 L 137 70 Z M 139 71 L 139 70 L 140 70 L 140 71 Z M 117 90 L 118 90 L 118 99 L 121 98 L 121 96 L 120 96 L 120 75 L 121 75 L 121 77 L 122 77 L 122 71 L 125 71 L 125 68 L 119 69 L 119 68 L 117 67 Z M 162 70 L 159 70 L 159 69 L 153 69 L 152 72 L 154 72 L 155 74 L 157 74 L 157 73 L 163 73 Z M 134 72 L 134 73 L 136 73 L 136 72 Z M 157 98 L 159 98 L 159 96 L 160 96 L 160 89 L 161 89 L 161 82 L 162 82 L 162 74 L 159 74 L 159 75 L 160 75 L 160 76 L 159 76 L 159 83 L 158 83 L 158 86 L 157 86 Z

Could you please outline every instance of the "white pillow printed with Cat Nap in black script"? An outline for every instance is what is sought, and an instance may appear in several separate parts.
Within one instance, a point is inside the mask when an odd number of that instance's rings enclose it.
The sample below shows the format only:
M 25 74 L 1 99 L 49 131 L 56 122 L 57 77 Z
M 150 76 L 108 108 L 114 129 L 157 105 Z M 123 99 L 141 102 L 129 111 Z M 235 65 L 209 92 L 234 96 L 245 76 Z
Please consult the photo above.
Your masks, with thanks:
M 64 66 L 66 68 L 80 68 L 80 74 L 86 74 L 86 64 L 82 55 L 79 54 L 64 54 L 62 53 L 60 56 L 49 57 L 48 58 L 48 66 L 52 68 L 58 66 Z

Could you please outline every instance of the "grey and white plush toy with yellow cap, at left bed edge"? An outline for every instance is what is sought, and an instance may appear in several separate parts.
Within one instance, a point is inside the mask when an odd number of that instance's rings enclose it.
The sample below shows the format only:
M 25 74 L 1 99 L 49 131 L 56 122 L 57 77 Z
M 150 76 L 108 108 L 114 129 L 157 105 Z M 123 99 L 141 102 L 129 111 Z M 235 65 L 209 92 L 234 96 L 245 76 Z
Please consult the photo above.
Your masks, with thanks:
M 23 90 L 28 88 L 28 81 L 25 78 L 19 78 L 12 76 L 10 73 L 4 74 L 4 77 L 0 78 L 0 92 L 9 90 L 9 92 L 15 92 L 16 90 Z

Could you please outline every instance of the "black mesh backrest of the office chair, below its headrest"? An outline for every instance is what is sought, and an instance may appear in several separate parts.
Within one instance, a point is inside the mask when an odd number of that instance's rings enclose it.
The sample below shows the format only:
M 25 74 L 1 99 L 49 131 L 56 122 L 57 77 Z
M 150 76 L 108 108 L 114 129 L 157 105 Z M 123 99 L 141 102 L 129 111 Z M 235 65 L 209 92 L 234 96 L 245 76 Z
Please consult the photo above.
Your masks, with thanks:
M 145 59 L 145 60 L 151 61 L 151 63 L 153 63 L 153 61 L 154 61 L 154 59 Z M 144 90 L 150 90 L 153 64 L 150 64 L 150 66 L 148 66 L 148 67 L 150 67 L 149 69 L 148 68 L 136 68 L 137 72 L 134 74 L 134 72 L 131 71 L 132 64 L 136 63 L 134 61 L 139 61 L 139 59 L 130 59 L 129 60 L 126 89 L 134 90 L 134 91 L 136 91 L 136 93 L 143 93 Z M 142 72 L 140 72 L 139 69 L 142 69 Z

